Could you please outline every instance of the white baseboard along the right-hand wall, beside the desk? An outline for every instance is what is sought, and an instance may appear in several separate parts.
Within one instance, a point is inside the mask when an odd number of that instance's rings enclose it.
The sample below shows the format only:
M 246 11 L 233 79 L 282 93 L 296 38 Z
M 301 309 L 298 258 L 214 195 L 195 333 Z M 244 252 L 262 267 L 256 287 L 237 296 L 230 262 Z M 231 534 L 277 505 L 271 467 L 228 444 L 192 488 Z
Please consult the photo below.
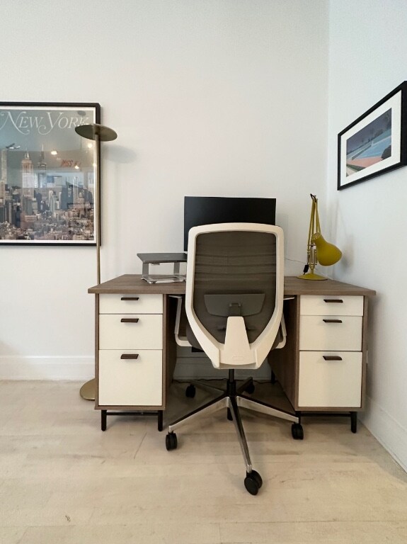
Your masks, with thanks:
M 407 429 L 370 397 L 366 397 L 366 409 L 360 420 L 407 472 Z

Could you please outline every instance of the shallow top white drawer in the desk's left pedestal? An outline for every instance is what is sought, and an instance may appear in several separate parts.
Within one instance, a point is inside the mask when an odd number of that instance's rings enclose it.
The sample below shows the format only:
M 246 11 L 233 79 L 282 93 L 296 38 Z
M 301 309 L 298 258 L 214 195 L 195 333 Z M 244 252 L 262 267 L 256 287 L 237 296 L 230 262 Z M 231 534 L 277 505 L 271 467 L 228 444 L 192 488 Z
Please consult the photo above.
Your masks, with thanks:
M 100 295 L 100 314 L 162 314 L 163 295 Z

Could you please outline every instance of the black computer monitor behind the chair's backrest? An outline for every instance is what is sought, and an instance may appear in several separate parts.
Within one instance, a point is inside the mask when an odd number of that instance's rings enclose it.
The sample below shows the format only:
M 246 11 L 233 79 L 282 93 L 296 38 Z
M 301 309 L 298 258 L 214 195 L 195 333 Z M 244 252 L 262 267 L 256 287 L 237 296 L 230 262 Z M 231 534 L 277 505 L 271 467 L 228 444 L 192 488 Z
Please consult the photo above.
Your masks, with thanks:
M 188 232 L 192 227 L 214 223 L 275 225 L 275 198 L 185 196 L 184 251 L 188 249 Z

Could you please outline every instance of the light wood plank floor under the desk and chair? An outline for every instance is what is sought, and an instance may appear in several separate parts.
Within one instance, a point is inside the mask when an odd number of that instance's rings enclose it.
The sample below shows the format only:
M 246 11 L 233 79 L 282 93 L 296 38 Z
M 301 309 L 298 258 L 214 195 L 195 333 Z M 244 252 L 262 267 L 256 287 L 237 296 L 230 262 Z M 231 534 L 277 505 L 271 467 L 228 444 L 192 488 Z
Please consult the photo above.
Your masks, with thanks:
M 244 412 L 253 497 L 224 414 L 167 452 L 152 417 L 103 433 L 80 385 L 0 382 L 1 544 L 407 542 L 407 475 L 361 424 L 304 419 L 294 441 L 289 422 Z

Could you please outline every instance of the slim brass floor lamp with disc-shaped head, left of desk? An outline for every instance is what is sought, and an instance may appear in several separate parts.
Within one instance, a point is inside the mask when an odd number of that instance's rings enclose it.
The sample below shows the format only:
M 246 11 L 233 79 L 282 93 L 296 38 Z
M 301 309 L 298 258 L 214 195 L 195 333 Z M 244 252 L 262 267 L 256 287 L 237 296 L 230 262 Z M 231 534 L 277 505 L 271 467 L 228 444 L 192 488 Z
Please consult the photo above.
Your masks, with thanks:
M 87 138 L 88 140 L 94 140 L 95 142 L 95 155 L 96 155 L 96 185 L 95 185 L 95 196 L 94 200 L 97 203 L 101 203 L 101 171 L 99 167 L 99 143 L 100 142 L 111 142 L 117 138 L 116 132 L 108 127 L 103 125 L 98 125 L 98 123 L 93 123 L 91 125 L 79 125 L 75 127 L 75 132 L 80 136 Z M 100 205 L 98 205 L 98 210 L 100 210 Z M 97 283 L 101 283 L 101 217 L 95 217 L 96 220 L 96 278 Z M 92 378 L 88 382 L 82 385 L 79 394 L 83 399 L 86 400 L 95 400 L 96 397 L 96 379 Z

